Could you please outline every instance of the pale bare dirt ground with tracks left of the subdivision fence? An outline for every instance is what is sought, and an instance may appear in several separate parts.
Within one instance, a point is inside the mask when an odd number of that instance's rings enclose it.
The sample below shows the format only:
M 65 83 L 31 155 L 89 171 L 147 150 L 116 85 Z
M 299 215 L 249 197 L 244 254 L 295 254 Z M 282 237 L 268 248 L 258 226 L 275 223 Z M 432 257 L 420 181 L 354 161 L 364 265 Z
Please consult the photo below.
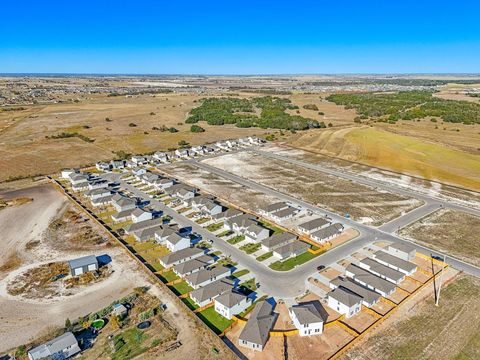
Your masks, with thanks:
M 193 314 L 180 306 L 173 299 L 173 295 L 165 287 L 153 284 L 143 269 L 140 269 L 122 249 L 116 246 L 107 246 L 107 243 L 87 246 L 82 244 L 79 249 L 67 250 L 68 246 L 58 246 L 58 241 L 66 240 L 68 244 L 74 237 L 74 223 L 69 221 L 56 229 L 51 238 L 45 236 L 49 224 L 61 218 L 65 211 L 65 198 L 50 185 L 26 188 L 21 191 L 4 194 L 5 197 L 26 196 L 34 200 L 28 204 L 9 207 L 0 212 L 0 249 L 2 261 L 5 262 L 6 254 L 18 254 L 19 262 L 16 270 L 3 270 L 0 272 L 0 352 L 28 343 L 34 338 L 51 332 L 53 327 L 63 326 L 66 318 L 76 319 L 88 313 L 98 311 L 112 301 L 131 293 L 138 286 L 150 286 L 151 293 L 167 304 L 166 318 L 175 324 L 179 331 L 179 340 L 182 346 L 162 358 L 178 359 L 189 357 L 191 359 L 205 359 L 210 356 L 211 348 L 220 349 L 222 357 L 231 358 L 231 353 L 226 350 L 221 340 L 212 332 L 199 326 Z M 60 214 L 60 215 L 59 215 Z M 68 214 L 68 212 L 67 212 Z M 87 227 L 90 221 L 80 222 L 75 226 Z M 89 224 L 94 229 L 94 234 L 101 234 L 101 230 L 94 224 Z M 79 230 L 88 234 L 85 229 Z M 62 234 L 62 235 L 60 235 Z M 34 242 L 35 246 L 26 246 Z M 89 250 L 86 250 L 86 246 Z M 69 296 L 55 296 L 50 299 L 25 299 L 13 296 L 6 291 L 7 284 L 18 274 L 26 269 L 40 266 L 41 264 L 58 259 L 69 260 L 74 257 L 107 253 L 112 259 L 113 274 L 104 281 L 81 287 L 79 291 Z M 25 265 L 27 264 L 27 265 Z M 158 354 L 150 354 L 144 358 L 158 358 Z

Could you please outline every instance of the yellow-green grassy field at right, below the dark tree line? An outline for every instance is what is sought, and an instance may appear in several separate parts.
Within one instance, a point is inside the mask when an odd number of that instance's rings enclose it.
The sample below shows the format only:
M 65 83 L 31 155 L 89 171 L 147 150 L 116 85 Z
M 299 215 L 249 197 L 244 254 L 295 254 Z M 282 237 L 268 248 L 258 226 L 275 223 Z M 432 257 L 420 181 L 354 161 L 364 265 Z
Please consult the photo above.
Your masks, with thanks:
M 443 127 L 461 128 L 461 131 L 441 130 Z M 422 131 L 416 124 L 410 123 L 382 127 L 352 126 L 312 130 L 292 137 L 289 144 L 328 156 L 479 190 L 479 128 L 478 125 L 445 124 L 440 125 L 438 130 Z M 455 140 L 449 140 L 444 135 L 451 135 Z M 447 146 L 435 139 L 444 139 L 448 145 L 453 142 L 459 147 L 468 146 L 470 151 Z

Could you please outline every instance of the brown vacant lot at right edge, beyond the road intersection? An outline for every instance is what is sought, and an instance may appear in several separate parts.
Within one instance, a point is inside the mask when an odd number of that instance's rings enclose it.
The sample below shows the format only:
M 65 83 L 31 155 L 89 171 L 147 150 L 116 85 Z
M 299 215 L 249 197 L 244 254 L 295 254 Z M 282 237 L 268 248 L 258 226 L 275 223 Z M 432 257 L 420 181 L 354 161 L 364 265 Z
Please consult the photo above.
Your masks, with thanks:
M 400 235 L 478 266 L 479 231 L 479 217 L 441 209 L 401 229 Z

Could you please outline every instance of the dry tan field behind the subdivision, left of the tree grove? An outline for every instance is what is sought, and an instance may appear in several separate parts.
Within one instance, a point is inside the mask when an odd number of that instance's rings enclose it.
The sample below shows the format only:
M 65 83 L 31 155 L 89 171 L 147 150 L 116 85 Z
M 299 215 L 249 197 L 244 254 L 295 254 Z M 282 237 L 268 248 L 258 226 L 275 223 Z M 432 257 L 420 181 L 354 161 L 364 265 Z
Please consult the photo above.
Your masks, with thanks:
M 80 103 L 35 105 L 22 111 L 0 112 L 0 124 L 9 124 L 0 126 L 0 181 L 92 164 L 115 158 L 115 152 L 120 150 L 146 153 L 175 148 L 180 140 L 193 145 L 267 132 L 203 124 L 206 131 L 201 135 L 190 132 L 190 125 L 184 121 L 200 97 L 194 94 L 96 96 Z M 175 127 L 178 132 L 153 130 L 162 126 Z M 94 142 L 77 137 L 46 138 L 62 132 L 77 133 Z

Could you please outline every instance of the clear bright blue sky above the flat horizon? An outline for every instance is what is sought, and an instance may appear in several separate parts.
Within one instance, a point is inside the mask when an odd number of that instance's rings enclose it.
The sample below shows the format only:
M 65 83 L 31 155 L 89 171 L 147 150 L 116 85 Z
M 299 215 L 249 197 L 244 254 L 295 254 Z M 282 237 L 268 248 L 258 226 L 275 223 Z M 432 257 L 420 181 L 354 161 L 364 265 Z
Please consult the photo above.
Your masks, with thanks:
M 465 0 L 3 0 L 0 73 L 479 73 L 479 18 Z

